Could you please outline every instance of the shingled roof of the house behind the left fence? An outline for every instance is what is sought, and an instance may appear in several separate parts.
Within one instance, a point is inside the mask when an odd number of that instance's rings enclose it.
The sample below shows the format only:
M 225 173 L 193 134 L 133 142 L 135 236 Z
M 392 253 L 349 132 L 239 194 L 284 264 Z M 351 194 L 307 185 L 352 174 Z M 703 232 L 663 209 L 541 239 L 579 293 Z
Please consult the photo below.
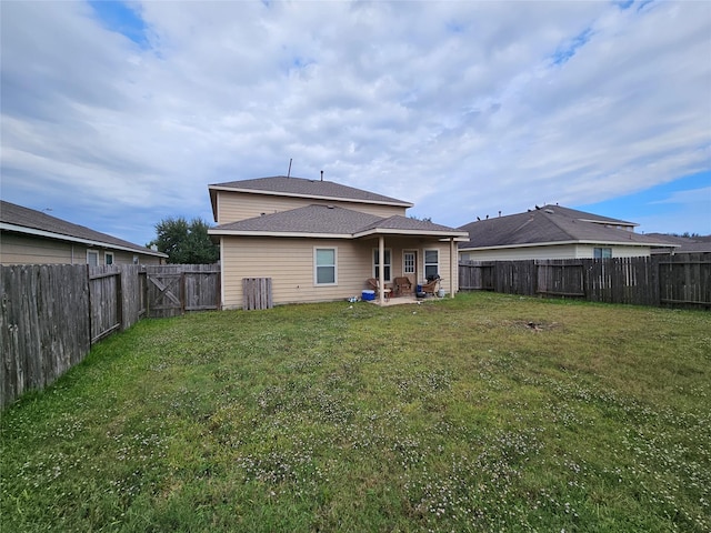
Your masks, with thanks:
M 167 258 L 168 255 L 116 237 L 94 231 L 84 225 L 73 224 L 49 214 L 23 208 L 14 203 L 0 201 L 0 229 L 48 239 L 82 242 L 117 250 L 127 250 L 146 255 Z

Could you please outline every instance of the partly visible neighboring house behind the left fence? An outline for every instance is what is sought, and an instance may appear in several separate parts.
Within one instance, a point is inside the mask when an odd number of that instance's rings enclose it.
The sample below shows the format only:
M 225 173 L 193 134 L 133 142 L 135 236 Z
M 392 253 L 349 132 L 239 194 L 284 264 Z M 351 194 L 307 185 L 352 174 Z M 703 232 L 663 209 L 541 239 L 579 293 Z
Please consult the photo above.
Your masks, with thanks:
M 0 264 L 160 264 L 167 258 L 41 211 L 0 202 Z

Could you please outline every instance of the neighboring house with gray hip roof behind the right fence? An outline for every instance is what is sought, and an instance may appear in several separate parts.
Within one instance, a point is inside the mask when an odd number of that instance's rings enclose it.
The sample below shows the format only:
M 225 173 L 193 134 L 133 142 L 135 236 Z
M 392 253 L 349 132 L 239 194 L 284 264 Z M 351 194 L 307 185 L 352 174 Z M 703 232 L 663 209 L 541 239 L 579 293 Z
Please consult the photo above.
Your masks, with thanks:
M 649 257 L 653 247 L 678 244 L 634 233 L 633 222 L 560 205 L 478 220 L 462 225 L 469 242 L 459 243 L 462 261 L 527 259 L 605 259 Z

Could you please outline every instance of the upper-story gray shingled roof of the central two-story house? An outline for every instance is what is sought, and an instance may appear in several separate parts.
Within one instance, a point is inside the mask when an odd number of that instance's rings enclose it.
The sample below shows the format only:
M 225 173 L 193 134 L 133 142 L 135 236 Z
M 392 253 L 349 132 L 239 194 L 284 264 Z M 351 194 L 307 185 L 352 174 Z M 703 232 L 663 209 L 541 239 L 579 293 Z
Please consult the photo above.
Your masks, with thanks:
M 363 191 L 353 187 L 341 185 L 332 181 L 307 180 L 303 178 L 287 178 L 274 175 L 253 180 L 228 181 L 208 185 L 210 198 L 214 204 L 214 191 L 233 190 L 260 194 L 276 194 L 311 199 L 352 201 L 359 203 L 380 203 L 411 208 L 412 203 L 397 198 L 384 197 L 374 192 Z

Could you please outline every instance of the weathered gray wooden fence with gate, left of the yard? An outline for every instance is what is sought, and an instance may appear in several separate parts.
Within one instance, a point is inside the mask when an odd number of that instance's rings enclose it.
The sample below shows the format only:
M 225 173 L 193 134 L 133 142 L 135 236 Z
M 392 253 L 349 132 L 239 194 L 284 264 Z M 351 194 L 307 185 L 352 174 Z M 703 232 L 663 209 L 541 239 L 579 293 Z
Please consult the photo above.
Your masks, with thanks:
M 93 343 L 142 318 L 220 308 L 212 264 L 26 264 L 0 266 L 0 408 L 47 386 Z M 179 282 L 163 283 L 163 274 Z

